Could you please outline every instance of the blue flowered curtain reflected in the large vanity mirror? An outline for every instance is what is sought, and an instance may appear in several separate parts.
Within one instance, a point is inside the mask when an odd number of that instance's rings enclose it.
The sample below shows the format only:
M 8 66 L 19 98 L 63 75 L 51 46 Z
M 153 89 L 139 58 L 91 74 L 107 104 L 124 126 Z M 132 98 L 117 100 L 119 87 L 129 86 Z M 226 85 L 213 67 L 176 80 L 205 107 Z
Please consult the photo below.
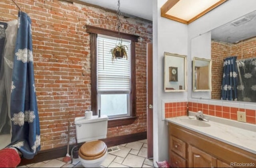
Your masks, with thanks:
M 223 79 L 221 86 L 221 100 L 237 100 L 238 70 L 236 56 L 228 57 L 223 62 Z

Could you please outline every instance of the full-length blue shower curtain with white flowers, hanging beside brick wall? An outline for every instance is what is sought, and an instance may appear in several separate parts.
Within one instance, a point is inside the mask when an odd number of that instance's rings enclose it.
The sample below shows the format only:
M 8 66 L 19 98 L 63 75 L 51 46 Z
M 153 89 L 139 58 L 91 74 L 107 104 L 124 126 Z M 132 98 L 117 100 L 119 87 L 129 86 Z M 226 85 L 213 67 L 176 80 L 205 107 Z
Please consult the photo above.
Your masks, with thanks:
M 17 36 L 13 55 L 10 57 L 10 54 L 6 54 L 4 59 L 1 58 L 2 62 L 4 60 L 12 69 L 11 77 L 9 76 L 10 85 L 6 84 L 8 86 L 6 93 L 10 90 L 10 100 L 8 94 L 6 98 L 7 102 L 10 102 L 10 107 L 6 111 L 9 113 L 12 135 L 8 147 L 17 148 L 24 158 L 31 159 L 40 150 L 40 125 L 34 84 L 30 17 L 24 12 L 19 12 L 16 27 L 18 31 L 15 31 Z M 4 48 L 8 49 L 11 44 L 8 44 L 8 37 L 6 39 Z M 6 53 L 5 49 L 4 53 Z

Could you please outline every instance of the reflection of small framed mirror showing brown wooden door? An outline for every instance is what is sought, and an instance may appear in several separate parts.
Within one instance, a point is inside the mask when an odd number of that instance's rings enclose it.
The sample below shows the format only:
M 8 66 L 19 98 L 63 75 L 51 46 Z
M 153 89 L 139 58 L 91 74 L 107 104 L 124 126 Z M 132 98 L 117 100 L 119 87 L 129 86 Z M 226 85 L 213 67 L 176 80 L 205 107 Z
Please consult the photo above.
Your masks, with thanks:
M 193 58 L 193 91 L 212 91 L 212 60 Z

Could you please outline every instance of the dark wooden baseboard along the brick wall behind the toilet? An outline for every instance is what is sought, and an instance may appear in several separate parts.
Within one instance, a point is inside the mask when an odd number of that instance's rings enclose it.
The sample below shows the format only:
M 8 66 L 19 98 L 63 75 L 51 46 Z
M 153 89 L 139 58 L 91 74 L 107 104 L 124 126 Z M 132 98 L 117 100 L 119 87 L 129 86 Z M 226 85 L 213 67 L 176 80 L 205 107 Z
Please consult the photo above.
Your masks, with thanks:
M 112 147 L 115 145 L 121 145 L 121 144 L 125 144 L 125 143 L 131 143 L 134 141 L 140 141 L 143 139 L 147 139 L 147 132 L 135 133 L 135 134 L 130 134 L 130 135 L 122 135 L 119 137 L 112 137 L 112 138 L 106 138 L 106 139 L 101 139 L 101 140 L 104 141 L 108 147 Z M 71 154 L 71 149 L 74 146 L 76 146 L 76 145 L 82 146 L 82 144 L 83 143 L 70 145 L 69 153 Z M 66 156 L 66 152 L 67 152 L 66 146 L 48 149 L 48 150 L 42 150 L 42 151 L 38 152 L 38 154 L 36 154 L 36 156 L 33 159 L 22 158 L 21 162 L 18 166 L 42 162 L 45 160 L 51 160 L 51 159 L 55 159 L 55 158 L 61 158 L 61 157 Z

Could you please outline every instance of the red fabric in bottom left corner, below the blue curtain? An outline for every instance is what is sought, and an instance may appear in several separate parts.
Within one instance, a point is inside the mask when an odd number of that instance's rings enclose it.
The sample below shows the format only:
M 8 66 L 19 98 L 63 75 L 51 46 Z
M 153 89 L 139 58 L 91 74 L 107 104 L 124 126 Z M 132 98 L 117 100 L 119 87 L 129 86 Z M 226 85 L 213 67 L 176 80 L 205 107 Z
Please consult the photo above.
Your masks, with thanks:
M 15 149 L 0 150 L 0 168 L 14 168 L 20 164 L 20 156 Z

